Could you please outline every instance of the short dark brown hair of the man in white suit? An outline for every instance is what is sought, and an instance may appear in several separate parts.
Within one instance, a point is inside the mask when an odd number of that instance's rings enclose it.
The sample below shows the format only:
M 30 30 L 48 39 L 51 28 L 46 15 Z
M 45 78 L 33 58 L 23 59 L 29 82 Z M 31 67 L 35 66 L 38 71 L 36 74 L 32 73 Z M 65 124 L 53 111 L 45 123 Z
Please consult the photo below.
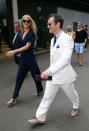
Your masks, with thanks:
M 60 22 L 60 28 L 63 27 L 64 19 L 62 18 L 61 15 L 56 14 L 56 13 L 54 13 L 54 14 L 50 14 L 49 17 L 48 17 L 48 19 L 51 18 L 51 17 L 54 18 L 54 22 L 55 22 L 55 24 L 57 24 L 58 22 Z

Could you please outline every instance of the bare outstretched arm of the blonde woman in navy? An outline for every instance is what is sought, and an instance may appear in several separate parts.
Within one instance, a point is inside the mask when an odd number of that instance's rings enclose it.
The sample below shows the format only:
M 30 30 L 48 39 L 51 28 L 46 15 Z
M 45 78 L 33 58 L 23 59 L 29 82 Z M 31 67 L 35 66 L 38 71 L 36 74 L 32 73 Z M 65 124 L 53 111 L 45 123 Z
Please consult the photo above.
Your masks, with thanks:
M 22 51 L 25 51 L 27 49 L 29 49 L 29 47 L 31 46 L 31 43 L 30 42 L 27 42 L 27 44 L 19 49 L 16 49 L 16 50 L 13 50 L 13 51 L 8 51 L 6 53 L 6 56 L 8 57 L 11 57 L 13 56 L 15 53 L 19 53 L 19 52 L 22 52 Z

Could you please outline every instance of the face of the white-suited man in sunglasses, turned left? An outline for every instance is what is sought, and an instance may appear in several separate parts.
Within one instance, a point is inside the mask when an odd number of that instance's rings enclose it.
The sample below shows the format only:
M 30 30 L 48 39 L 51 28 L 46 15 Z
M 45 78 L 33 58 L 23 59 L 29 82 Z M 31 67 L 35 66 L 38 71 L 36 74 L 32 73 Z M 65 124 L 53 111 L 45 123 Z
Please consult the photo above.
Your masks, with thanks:
M 57 30 L 59 29 L 59 23 L 55 24 L 54 18 L 51 17 L 48 19 L 47 28 L 49 29 L 49 33 L 55 34 L 55 32 L 57 32 Z

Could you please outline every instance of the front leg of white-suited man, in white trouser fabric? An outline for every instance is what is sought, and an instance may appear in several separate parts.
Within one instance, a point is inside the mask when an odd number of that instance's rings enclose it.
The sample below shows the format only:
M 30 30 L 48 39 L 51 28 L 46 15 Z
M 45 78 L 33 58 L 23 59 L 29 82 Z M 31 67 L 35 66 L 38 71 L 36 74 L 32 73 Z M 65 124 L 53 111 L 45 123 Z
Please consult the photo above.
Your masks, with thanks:
M 47 111 L 49 110 L 51 103 L 53 102 L 56 93 L 59 90 L 58 84 L 52 84 L 50 81 L 46 82 L 46 89 L 40 106 L 36 112 L 36 118 L 40 121 L 46 120 Z

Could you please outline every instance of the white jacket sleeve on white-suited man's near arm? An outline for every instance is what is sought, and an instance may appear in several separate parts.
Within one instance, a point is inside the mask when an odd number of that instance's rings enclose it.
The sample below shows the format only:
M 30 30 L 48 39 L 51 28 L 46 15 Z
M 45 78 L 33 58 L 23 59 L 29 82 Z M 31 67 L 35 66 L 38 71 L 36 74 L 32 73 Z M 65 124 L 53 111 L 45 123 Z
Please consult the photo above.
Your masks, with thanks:
M 62 70 L 68 63 L 71 61 L 72 52 L 73 52 L 74 42 L 71 37 L 68 37 L 64 41 L 62 56 L 56 63 L 50 65 L 49 70 L 52 72 L 52 75 L 57 71 Z

